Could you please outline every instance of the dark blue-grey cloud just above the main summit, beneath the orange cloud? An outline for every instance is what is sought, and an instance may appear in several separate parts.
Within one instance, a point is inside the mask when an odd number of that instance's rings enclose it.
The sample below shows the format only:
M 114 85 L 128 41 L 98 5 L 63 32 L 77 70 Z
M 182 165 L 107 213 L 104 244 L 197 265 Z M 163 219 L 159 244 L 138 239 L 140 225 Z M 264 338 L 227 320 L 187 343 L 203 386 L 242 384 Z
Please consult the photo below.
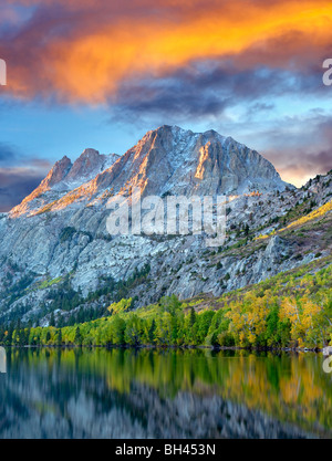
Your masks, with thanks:
M 257 67 L 239 71 L 234 63 L 193 64 L 168 78 L 123 85 L 113 119 L 195 119 L 221 116 L 237 104 L 248 106 L 248 116 L 272 111 L 278 96 L 314 93 L 317 77 L 301 73 Z M 266 99 L 266 101 L 261 101 Z

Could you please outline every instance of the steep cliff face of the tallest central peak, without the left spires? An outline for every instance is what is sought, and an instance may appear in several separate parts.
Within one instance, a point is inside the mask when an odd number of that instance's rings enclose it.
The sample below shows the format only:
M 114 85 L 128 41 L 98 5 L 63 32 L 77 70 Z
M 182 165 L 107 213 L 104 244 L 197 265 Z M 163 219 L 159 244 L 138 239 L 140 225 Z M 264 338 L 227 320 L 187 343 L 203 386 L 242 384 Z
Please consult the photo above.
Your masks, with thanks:
M 163 126 L 147 133 L 121 163 L 94 180 L 94 189 L 141 186 L 147 195 L 232 195 L 284 190 L 274 167 L 257 151 L 210 130 Z

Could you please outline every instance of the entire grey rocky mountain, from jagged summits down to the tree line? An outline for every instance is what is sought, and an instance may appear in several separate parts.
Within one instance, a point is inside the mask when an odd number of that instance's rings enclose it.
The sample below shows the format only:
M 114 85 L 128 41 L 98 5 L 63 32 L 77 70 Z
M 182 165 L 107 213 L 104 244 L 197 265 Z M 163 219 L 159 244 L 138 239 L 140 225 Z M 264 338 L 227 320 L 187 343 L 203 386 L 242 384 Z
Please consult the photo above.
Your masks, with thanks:
M 148 132 L 123 156 L 86 149 L 74 164 L 63 157 L 0 216 L 0 323 L 48 324 L 51 312 L 64 322 L 89 310 L 102 315 L 123 297 L 138 307 L 173 293 L 219 296 L 326 258 L 331 177 L 295 189 L 232 138 L 170 126 Z M 107 202 L 133 187 L 143 197 L 229 196 L 226 244 L 209 249 L 203 235 L 110 235 Z

